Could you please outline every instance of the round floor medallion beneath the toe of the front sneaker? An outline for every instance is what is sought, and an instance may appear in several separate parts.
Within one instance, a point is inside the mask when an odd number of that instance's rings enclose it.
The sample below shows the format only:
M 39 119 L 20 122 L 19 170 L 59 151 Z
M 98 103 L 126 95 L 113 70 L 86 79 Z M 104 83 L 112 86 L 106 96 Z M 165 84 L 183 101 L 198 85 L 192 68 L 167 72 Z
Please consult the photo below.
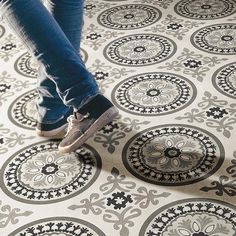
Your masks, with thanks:
M 32 144 L 4 163 L 1 188 L 7 196 L 47 204 L 74 197 L 94 183 L 101 169 L 99 154 L 88 145 L 61 154 L 58 144 L 55 140 Z

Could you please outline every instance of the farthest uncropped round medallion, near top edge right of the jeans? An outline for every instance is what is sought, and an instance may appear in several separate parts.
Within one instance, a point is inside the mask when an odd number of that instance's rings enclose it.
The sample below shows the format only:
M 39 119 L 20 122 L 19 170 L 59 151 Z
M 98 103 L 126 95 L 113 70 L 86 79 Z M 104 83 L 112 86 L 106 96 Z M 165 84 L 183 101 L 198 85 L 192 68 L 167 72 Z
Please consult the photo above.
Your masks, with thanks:
M 98 16 L 98 23 L 119 30 L 131 30 L 154 24 L 161 18 L 161 12 L 152 6 L 127 4 L 109 8 Z

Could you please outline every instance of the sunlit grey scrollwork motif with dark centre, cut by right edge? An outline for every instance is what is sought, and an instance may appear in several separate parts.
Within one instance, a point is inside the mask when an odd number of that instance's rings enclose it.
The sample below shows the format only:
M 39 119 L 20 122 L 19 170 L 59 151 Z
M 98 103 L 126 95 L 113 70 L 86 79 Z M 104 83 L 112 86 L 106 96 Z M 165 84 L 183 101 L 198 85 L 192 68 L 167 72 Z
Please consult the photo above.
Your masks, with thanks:
M 224 137 L 230 138 L 236 127 L 236 103 L 230 103 L 206 91 L 197 108 L 176 119 L 186 120 L 189 123 L 204 123 L 218 133 L 222 133 Z

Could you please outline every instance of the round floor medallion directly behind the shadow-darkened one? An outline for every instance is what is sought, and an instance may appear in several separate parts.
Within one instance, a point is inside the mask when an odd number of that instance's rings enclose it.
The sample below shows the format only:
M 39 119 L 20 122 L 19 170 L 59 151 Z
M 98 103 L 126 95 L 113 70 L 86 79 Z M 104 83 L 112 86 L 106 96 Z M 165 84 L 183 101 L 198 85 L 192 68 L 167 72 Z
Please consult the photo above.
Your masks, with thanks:
M 196 97 L 195 85 L 170 73 L 132 76 L 115 86 L 112 100 L 120 109 L 137 115 L 165 115 L 188 106 Z

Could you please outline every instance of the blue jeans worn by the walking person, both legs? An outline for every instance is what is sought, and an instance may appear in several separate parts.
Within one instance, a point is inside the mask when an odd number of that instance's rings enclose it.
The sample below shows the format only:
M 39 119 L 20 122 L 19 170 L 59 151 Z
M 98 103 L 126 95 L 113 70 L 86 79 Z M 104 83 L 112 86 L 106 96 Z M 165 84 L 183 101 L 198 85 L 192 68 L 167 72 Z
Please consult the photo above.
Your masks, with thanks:
M 53 123 L 98 94 L 80 54 L 83 0 L 0 0 L 2 16 L 39 62 L 39 122 Z

